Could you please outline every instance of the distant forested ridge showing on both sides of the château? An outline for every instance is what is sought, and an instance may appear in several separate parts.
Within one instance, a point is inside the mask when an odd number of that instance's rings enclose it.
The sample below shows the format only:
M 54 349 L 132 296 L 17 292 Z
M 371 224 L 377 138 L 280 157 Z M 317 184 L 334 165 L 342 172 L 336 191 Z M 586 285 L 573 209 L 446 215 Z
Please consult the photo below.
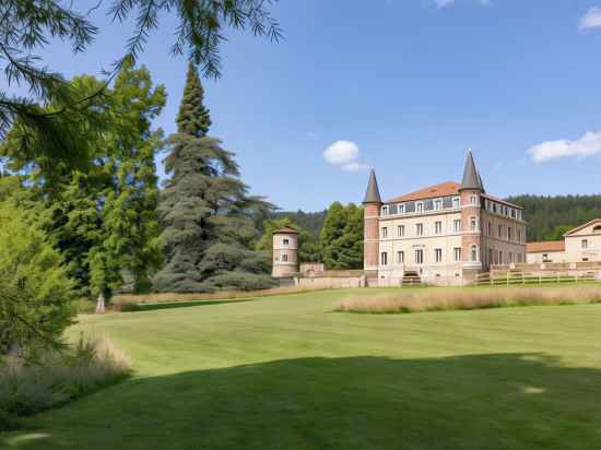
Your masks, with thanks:
M 601 217 L 601 194 L 598 196 L 515 196 L 507 199 L 526 208 L 528 241 L 559 240 L 567 230 Z M 317 239 L 327 210 L 315 213 L 278 212 L 274 218 L 288 217 Z

